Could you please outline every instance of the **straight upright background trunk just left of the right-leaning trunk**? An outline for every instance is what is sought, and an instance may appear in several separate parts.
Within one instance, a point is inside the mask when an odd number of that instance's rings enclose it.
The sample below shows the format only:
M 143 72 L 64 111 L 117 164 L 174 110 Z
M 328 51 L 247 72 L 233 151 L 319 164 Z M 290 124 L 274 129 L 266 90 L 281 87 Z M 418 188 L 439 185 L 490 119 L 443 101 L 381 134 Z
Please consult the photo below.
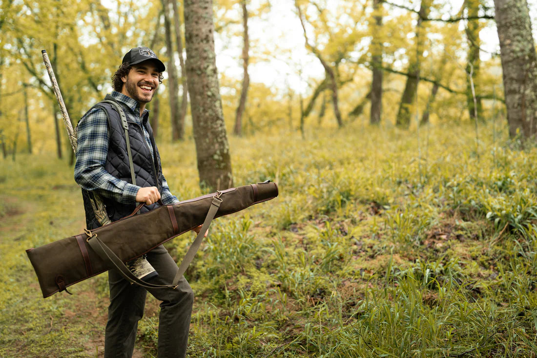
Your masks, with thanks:
M 373 1 L 373 12 L 378 13 L 381 0 Z M 373 16 L 375 23 L 373 25 L 372 57 L 373 80 L 371 82 L 371 113 L 369 113 L 369 123 L 379 124 L 382 114 L 382 40 L 380 37 L 380 26 L 382 25 L 382 16 Z

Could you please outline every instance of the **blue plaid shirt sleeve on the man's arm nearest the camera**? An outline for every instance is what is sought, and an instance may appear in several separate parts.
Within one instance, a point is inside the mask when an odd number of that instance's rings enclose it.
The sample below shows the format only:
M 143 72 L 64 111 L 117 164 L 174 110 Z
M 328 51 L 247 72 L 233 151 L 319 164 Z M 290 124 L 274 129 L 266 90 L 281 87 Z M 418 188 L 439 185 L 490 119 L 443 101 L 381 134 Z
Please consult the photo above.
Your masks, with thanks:
M 95 191 L 117 202 L 135 203 L 140 187 L 119 180 L 104 168 L 109 138 L 104 109 L 95 108 L 80 120 L 77 126 L 75 181 L 82 189 Z

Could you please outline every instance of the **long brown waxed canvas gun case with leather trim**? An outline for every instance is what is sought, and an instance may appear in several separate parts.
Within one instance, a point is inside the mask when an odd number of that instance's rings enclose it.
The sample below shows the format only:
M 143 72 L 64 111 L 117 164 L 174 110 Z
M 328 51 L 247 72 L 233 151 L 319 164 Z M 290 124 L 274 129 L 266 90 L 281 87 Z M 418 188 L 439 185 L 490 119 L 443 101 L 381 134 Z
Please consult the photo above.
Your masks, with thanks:
M 220 193 L 222 202 L 215 218 L 277 197 L 278 185 L 274 182 L 257 183 Z M 98 227 L 91 233 L 126 262 L 204 223 L 216 195 L 208 194 L 134 215 L 142 206 L 139 205 L 130 216 Z M 91 237 L 83 233 L 26 250 L 43 298 L 112 268 L 112 264 L 101 259 L 86 240 L 91 240 Z

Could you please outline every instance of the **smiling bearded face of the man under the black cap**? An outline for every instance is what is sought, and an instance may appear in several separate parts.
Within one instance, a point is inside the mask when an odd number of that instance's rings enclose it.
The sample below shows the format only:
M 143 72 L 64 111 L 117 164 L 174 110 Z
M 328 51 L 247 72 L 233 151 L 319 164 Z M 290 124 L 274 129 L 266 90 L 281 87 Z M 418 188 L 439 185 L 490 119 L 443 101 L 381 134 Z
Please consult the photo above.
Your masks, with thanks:
M 121 77 L 124 85 L 121 93 L 138 103 L 151 102 L 158 88 L 158 71 L 152 61 L 132 65 L 129 73 Z

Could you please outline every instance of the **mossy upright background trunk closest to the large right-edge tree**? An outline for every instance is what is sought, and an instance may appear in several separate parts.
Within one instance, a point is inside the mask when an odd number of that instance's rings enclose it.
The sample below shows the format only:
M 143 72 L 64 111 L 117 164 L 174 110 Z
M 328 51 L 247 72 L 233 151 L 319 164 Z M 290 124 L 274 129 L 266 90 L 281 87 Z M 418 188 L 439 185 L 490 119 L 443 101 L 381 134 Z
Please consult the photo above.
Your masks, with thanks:
M 479 0 L 466 0 L 466 8 L 468 9 L 468 17 L 477 17 L 479 12 Z M 479 58 L 479 47 L 481 45 L 479 39 L 479 31 L 479 20 L 468 20 L 468 26 L 466 27 L 466 38 L 468 40 L 468 63 L 466 66 L 466 102 L 468 104 L 468 114 L 470 114 L 471 119 L 483 119 L 481 98 L 477 95 L 478 93 L 480 93 L 480 91 L 478 90 L 478 78 L 479 69 L 481 65 L 481 60 Z M 472 91 L 471 88 L 472 81 L 474 82 L 474 91 Z M 475 103 L 474 94 L 476 95 Z

